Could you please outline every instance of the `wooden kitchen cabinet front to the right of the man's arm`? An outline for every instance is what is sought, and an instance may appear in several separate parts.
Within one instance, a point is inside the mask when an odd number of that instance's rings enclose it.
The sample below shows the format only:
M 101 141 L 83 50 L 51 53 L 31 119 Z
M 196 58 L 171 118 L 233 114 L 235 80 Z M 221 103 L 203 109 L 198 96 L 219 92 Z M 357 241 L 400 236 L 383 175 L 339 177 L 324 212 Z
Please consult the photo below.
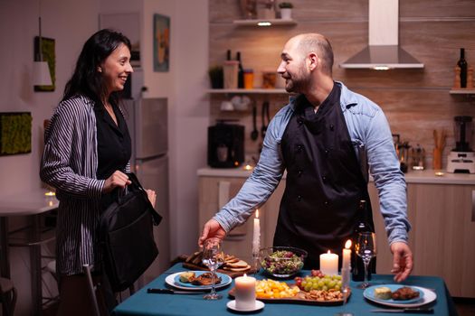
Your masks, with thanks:
M 475 297 L 475 185 L 408 186 L 413 274 L 443 277 L 452 296 Z

